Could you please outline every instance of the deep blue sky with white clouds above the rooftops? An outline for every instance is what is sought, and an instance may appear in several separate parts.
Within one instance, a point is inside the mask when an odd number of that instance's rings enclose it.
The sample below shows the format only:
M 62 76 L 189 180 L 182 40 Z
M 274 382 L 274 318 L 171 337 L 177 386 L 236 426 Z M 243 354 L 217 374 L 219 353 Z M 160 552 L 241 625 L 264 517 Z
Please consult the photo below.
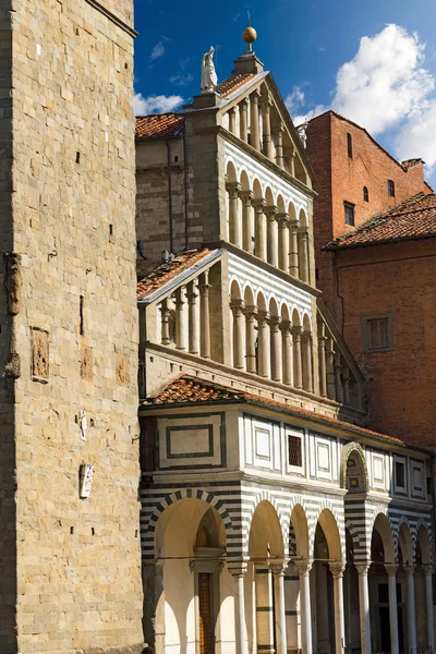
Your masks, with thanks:
M 400 159 L 422 156 L 436 186 L 435 0 L 135 0 L 135 108 L 173 110 L 199 92 L 203 53 L 218 46 L 219 81 L 255 50 L 293 119 L 328 108 Z

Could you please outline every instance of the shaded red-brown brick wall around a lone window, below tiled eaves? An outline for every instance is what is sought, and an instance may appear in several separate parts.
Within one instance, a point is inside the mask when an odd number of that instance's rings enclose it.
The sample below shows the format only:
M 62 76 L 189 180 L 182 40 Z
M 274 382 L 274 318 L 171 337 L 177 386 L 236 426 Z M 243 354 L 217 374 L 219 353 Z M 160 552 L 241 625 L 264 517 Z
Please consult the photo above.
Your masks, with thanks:
M 372 428 L 435 445 L 436 239 L 334 254 L 343 334 L 368 379 Z M 362 352 L 361 316 L 393 314 L 393 349 Z M 335 292 L 335 313 L 342 307 Z

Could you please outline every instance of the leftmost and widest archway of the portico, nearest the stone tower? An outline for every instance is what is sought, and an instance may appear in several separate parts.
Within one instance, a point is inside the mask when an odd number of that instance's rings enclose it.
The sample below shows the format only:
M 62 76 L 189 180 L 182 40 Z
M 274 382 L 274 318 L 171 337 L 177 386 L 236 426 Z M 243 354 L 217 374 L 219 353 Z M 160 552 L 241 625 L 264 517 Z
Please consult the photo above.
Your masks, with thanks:
M 234 639 L 233 625 L 219 619 L 222 602 L 233 596 L 233 580 L 222 568 L 226 543 L 221 517 L 203 500 L 179 500 L 160 516 L 156 565 L 145 568 L 145 625 L 159 625 L 158 635 L 146 638 L 156 651 L 214 654 L 223 631 Z

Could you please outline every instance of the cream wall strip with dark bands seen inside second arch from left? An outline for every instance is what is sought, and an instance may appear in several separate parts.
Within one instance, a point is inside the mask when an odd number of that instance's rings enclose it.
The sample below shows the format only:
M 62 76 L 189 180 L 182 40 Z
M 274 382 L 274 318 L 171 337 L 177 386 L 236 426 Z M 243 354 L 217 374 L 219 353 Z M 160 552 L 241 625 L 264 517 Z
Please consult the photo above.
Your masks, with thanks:
M 266 562 L 255 567 L 257 651 L 274 654 L 272 576 Z

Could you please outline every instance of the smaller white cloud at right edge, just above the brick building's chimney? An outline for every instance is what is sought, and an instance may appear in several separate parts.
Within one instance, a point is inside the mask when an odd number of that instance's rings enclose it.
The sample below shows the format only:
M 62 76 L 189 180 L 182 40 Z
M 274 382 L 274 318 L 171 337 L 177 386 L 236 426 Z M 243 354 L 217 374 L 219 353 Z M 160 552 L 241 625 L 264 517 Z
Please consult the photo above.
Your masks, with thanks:
M 396 149 L 400 160 L 421 157 L 426 162 L 426 172 L 436 169 L 436 99 L 431 99 L 413 111 L 402 125 Z

